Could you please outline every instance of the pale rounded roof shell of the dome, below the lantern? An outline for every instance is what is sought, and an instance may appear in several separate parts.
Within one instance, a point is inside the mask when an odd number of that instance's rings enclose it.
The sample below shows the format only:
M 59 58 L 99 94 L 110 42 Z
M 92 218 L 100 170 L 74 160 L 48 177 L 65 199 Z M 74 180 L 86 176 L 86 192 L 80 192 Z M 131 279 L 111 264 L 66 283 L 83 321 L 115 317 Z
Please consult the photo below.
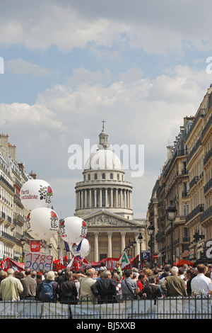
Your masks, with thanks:
M 122 162 L 110 149 L 98 149 L 91 154 L 86 162 L 84 170 L 123 170 Z

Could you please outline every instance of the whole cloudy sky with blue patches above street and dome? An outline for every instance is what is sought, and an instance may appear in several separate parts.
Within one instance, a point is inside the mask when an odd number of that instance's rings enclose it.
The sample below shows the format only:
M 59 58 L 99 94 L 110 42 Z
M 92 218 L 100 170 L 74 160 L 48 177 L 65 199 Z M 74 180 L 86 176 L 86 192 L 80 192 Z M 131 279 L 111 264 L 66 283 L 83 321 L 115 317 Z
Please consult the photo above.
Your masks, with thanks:
M 51 184 L 59 218 L 83 179 L 69 147 L 97 144 L 102 120 L 110 144 L 144 145 L 143 176 L 125 179 L 146 218 L 166 146 L 212 83 L 211 12 L 209 0 L 1 0 L 0 132 Z

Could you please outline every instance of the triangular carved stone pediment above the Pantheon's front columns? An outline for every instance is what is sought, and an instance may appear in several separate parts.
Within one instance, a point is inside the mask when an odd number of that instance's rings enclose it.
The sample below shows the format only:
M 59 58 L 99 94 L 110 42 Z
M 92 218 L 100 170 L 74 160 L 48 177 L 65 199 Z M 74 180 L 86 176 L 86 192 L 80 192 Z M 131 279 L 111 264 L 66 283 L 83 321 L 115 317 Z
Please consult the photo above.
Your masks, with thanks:
M 83 216 L 83 220 L 86 222 L 88 227 L 112 227 L 112 226 L 122 226 L 122 227 L 142 227 L 139 222 L 134 220 L 128 220 L 120 215 L 111 213 L 109 210 L 100 209 L 91 213 L 89 215 Z

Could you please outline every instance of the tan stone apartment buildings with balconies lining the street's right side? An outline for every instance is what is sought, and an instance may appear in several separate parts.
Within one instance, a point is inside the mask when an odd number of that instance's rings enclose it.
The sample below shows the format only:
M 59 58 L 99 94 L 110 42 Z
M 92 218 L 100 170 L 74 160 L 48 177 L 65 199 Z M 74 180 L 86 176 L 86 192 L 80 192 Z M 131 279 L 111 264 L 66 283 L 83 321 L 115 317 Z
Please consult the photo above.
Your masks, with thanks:
M 172 262 L 171 256 L 174 262 L 212 262 L 211 113 L 212 85 L 196 114 L 182 119 L 173 145 L 166 147 L 167 160 L 155 181 L 147 214 L 148 225 L 154 227 L 148 246 L 160 265 Z M 170 202 L 177 209 L 172 227 L 167 219 Z

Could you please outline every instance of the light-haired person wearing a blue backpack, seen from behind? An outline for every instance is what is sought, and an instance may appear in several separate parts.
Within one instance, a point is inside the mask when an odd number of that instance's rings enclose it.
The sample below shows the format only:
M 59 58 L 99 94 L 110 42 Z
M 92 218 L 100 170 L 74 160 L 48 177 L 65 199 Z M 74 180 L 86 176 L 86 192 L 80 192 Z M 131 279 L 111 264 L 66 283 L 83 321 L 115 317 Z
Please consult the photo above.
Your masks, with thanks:
M 59 286 L 54 281 L 54 271 L 47 272 L 45 280 L 43 280 L 37 287 L 37 295 L 42 302 L 57 303 L 59 294 Z

